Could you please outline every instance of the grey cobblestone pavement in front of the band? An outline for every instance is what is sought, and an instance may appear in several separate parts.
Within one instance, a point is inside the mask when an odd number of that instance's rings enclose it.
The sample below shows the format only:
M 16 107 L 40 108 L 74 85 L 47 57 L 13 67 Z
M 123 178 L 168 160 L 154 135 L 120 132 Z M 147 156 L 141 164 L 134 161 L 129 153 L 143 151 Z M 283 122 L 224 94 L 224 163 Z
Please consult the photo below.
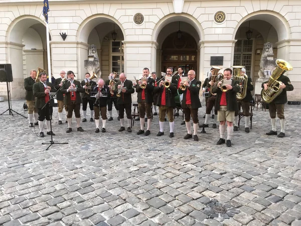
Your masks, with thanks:
M 22 105 L 13 101 L 18 112 Z M 285 105 L 282 139 L 265 135 L 268 111 L 255 109 L 250 133 L 242 120 L 230 148 L 216 145 L 212 119 L 195 142 L 183 139 L 181 117 L 174 138 L 168 122 L 159 138 L 158 116 L 145 137 L 136 135 L 139 122 L 118 132 L 113 114 L 106 133 L 95 134 L 94 122 L 77 132 L 73 120 L 66 134 L 54 108 L 54 141 L 69 144 L 48 151 L 41 143 L 50 136 L 38 137 L 38 127 L 0 116 L 0 225 L 301 225 L 300 106 Z

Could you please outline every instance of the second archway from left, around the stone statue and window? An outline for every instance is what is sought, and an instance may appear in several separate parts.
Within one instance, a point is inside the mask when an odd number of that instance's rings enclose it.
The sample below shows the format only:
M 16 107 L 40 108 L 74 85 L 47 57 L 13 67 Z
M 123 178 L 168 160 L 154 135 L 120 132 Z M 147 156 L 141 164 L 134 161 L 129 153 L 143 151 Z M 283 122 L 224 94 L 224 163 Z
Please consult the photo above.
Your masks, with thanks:
M 124 31 L 119 23 L 107 15 L 93 15 L 87 18 L 79 29 L 79 41 L 86 43 L 85 48 L 80 49 L 78 71 L 83 78 L 87 71 L 84 61 L 88 59 L 88 46 L 95 45 L 99 58 L 101 78 L 107 79 L 108 75 L 115 71 L 124 71 Z

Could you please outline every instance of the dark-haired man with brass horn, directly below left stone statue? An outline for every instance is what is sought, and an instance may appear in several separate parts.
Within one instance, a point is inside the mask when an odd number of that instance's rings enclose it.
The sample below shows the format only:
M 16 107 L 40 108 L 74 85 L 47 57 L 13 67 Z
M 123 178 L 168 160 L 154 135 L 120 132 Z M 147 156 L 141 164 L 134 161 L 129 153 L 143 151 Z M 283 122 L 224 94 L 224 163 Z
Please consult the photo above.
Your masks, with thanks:
M 82 96 L 82 103 L 83 103 L 83 114 L 84 114 L 84 118 L 83 118 L 83 123 L 87 122 L 87 105 L 89 103 L 89 107 L 90 107 L 90 122 L 93 122 L 93 114 L 94 114 L 94 108 L 93 108 L 93 104 L 94 104 L 94 100 L 90 95 L 91 92 L 91 87 L 96 85 L 95 81 L 92 81 L 89 79 L 90 78 L 90 73 L 86 73 L 85 74 L 85 79 L 82 80 L 81 82 L 81 86 L 85 89 L 85 92 L 83 92 L 81 94 Z M 89 82 L 89 85 L 86 85 L 86 83 Z M 88 92 L 88 93 L 86 93 Z

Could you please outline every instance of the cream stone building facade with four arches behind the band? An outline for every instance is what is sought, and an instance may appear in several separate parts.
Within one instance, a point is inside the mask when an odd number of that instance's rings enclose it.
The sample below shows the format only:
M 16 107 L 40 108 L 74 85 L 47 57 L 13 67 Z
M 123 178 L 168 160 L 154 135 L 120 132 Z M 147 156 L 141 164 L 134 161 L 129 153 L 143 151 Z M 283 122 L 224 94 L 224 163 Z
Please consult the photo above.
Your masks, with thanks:
M 12 64 L 12 97 L 23 98 L 23 80 L 31 69 L 47 69 L 42 1 L 3 0 L 0 3 L 0 64 Z M 102 77 L 124 71 L 128 79 L 142 69 L 165 71 L 183 66 L 204 81 L 211 60 L 223 68 L 244 65 L 258 78 L 263 44 L 270 42 L 274 58 L 293 66 L 287 72 L 301 97 L 301 2 L 299 0 L 52 0 L 49 1 L 51 69 L 84 77 L 88 46 L 96 45 Z M 251 36 L 246 37 L 250 30 Z M 112 33 L 116 33 L 113 40 Z M 60 33 L 66 33 L 65 41 Z M 217 57 L 217 58 L 216 58 Z M 0 83 L 0 96 L 6 84 Z

